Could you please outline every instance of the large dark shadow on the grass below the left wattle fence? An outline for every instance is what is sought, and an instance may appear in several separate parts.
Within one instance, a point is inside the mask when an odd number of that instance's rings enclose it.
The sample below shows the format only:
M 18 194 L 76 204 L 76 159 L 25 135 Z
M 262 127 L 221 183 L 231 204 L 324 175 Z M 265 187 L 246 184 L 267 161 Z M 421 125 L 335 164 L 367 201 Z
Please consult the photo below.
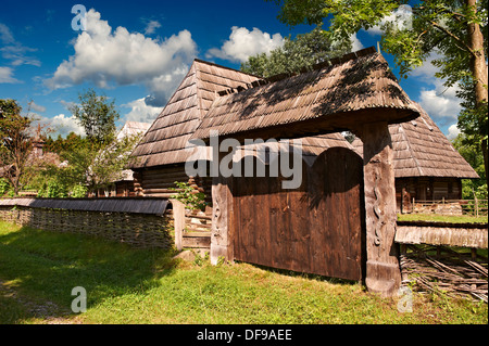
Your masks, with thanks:
M 78 286 L 87 292 L 88 309 L 108 298 L 142 294 L 172 274 L 173 255 L 173 249 L 28 227 L 5 231 L 0 223 L 0 323 L 74 317 L 72 290 Z

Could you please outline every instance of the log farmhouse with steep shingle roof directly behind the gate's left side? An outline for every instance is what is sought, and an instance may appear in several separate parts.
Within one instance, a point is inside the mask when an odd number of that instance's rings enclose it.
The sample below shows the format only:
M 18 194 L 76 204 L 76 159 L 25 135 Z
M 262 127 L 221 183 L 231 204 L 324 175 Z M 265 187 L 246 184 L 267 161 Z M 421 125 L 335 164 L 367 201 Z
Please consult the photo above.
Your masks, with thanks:
M 192 154 L 191 150 L 187 150 L 189 140 L 214 100 L 220 97 L 218 92 L 244 90 L 264 82 L 259 77 L 196 59 L 180 86 L 133 152 L 136 159 L 130 169 L 134 171 L 135 194 L 168 198 L 175 194 L 171 189 L 176 188 L 176 181 L 189 182 L 196 190 L 205 193 L 212 206 L 212 179 L 188 177 L 185 171 L 185 163 Z M 303 145 L 306 157 L 331 146 L 350 148 L 340 133 L 311 137 L 304 140 Z M 251 151 L 255 155 L 256 149 Z M 204 153 L 202 159 L 210 159 L 210 154 Z

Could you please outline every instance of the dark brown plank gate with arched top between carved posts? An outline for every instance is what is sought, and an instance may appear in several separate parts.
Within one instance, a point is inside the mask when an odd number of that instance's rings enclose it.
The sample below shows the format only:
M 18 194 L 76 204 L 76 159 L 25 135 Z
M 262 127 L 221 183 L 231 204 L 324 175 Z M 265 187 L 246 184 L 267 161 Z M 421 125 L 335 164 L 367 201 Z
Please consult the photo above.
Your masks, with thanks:
M 364 278 L 363 161 L 348 149 L 302 164 L 302 184 L 234 178 L 235 259 L 348 280 Z M 267 172 L 268 174 L 268 172 Z

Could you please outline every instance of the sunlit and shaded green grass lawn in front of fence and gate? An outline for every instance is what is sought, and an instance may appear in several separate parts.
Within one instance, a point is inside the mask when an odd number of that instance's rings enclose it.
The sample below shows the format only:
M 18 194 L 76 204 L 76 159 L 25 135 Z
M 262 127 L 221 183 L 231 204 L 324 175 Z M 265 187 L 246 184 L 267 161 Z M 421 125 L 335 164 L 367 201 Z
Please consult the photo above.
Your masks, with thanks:
M 172 257 L 0 221 L 0 323 L 488 323 L 484 303 L 414 293 L 399 312 L 359 283 Z M 84 313 L 71 311 L 75 286 Z

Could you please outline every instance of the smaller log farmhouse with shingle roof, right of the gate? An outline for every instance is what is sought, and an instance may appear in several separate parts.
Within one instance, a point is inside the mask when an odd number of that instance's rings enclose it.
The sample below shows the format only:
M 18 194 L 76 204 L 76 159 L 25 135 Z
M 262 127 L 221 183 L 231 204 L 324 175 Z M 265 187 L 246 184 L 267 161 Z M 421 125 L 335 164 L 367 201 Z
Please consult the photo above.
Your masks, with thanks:
M 421 106 L 419 112 L 414 120 L 389 126 L 398 212 L 409 210 L 413 198 L 461 200 L 462 179 L 479 178 Z M 352 145 L 363 156 L 362 140 L 356 138 Z

